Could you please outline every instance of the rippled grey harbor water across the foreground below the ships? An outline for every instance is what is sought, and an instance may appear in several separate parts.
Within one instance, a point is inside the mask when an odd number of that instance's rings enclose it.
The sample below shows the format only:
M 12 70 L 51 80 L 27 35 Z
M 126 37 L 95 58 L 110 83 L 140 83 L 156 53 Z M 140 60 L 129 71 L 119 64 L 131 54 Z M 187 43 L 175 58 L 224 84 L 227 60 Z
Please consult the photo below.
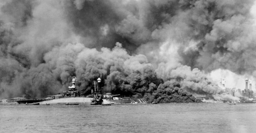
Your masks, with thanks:
M 0 105 L 1 132 L 256 132 L 256 104 Z

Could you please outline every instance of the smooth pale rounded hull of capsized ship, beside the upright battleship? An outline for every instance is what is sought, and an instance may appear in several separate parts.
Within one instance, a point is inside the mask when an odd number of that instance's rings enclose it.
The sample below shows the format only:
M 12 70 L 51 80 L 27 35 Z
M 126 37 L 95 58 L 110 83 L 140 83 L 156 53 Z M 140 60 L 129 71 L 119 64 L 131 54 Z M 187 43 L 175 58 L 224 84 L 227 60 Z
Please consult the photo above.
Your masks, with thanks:
M 89 97 L 68 97 L 68 98 L 59 98 L 59 99 L 52 99 L 47 101 L 40 101 L 40 104 L 66 104 L 66 103 L 90 103 L 93 98 Z

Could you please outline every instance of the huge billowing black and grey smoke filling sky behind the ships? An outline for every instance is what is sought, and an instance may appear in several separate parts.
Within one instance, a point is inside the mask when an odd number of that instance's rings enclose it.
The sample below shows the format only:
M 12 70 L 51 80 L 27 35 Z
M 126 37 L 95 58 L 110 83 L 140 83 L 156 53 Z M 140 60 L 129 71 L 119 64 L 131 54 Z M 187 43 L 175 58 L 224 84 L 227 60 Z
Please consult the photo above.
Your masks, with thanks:
M 102 76 L 104 92 L 149 101 L 227 99 L 210 73 L 256 75 L 255 6 L 253 0 L 1 1 L 0 98 L 60 93 L 73 77 L 83 89 Z

